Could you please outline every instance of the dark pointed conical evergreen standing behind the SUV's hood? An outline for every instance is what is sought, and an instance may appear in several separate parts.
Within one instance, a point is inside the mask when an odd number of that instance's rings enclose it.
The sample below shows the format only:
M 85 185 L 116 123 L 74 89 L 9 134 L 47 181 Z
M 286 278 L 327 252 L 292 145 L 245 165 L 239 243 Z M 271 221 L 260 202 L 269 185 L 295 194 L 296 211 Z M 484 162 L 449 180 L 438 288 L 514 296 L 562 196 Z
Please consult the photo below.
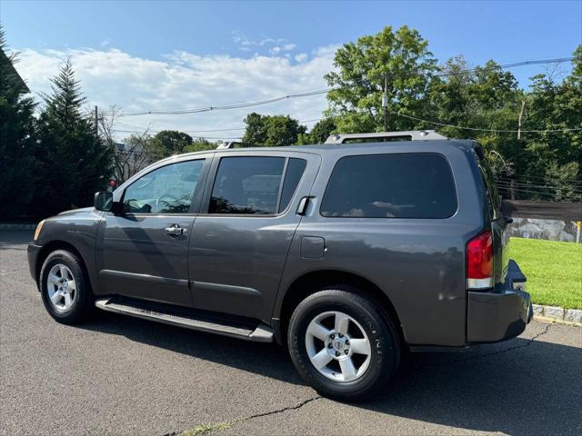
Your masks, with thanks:
M 111 149 L 95 134 L 94 120 L 82 113 L 85 97 L 70 59 L 52 83 L 38 122 L 43 183 L 35 190 L 35 203 L 43 204 L 44 214 L 93 203 L 112 166 Z

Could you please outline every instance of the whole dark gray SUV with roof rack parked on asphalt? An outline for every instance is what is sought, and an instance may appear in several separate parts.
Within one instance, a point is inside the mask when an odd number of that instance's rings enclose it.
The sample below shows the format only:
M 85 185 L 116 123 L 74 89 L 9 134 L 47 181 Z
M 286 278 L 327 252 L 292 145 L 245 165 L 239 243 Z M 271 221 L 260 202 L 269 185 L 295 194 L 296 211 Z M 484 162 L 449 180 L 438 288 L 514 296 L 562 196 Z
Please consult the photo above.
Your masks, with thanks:
M 155 163 L 39 223 L 28 260 L 46 310 L 276 341 L 349 401 L 386 391 L 405 351 L 517 336 L 526 277 L 479 145 L 392 139 Z

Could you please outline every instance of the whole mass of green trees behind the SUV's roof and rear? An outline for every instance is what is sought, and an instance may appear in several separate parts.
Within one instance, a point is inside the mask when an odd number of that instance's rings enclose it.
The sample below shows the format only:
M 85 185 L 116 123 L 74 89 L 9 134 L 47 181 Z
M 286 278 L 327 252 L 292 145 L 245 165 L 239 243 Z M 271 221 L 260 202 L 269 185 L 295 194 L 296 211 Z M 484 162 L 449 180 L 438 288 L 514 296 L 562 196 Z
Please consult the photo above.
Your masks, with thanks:
M 582 131 L 563 129 L 582 127 L 582 45 L 574 57 L 563 81 L 538 74 L 524 90 L 494 61 L 471 68 L 457 56 L 439 66 L 415 30 L 387 26 L 337 50 L 336 70 L 326 74 L 336 88 L 327 94 L 326 114 L 338 133 L 382 131 L 387 85 L 389 130 L 476 139 L 503 193 L 515 182 L 517 198 L 579 201 Z M 557 132 L 527 132 L 535 130 Z

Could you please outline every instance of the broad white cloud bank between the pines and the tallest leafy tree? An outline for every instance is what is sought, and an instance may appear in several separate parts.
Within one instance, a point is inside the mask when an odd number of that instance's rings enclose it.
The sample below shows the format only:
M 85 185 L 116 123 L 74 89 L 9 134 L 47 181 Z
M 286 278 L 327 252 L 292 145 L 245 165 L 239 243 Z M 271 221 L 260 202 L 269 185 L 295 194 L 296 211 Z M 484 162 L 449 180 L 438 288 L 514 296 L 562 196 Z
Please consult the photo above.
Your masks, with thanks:
M 139 112 L 253 102 L 322 89 L 326 87 L 323 75 L 333 68 L 335 51 L 336 46 L 320 47 L 309 60 L 306 54 L 297 54 L 294 62 L 282 54 L 241 58 L 175 52 L 162 61 L 154 61 L 117 49 L 21 49 L 17 68 L 33 93 L 49 92 L 49 78 L 58 73 L 58 68 L 70 56 L 87 97 L 87 107 L 96 104 L 105 109 L 116 104 L 125 112 Z M 243 118 L 253 111 L 290 114 L 298 120 L 309 120 L 321 117 L 325 107 L 326 97 L 321 94 L 228 111 L 124 117 L 120 122 L 125 125 L 120 124 L 118 128 L 132 130 L 127 124 L 147 126 L 150 123 L 155 130 L 244 127 Z M 240 131 L 232 131 L 206 135 L 230 137 L 240 134 Z M 125 135 L 120 133 L 120 137 Z

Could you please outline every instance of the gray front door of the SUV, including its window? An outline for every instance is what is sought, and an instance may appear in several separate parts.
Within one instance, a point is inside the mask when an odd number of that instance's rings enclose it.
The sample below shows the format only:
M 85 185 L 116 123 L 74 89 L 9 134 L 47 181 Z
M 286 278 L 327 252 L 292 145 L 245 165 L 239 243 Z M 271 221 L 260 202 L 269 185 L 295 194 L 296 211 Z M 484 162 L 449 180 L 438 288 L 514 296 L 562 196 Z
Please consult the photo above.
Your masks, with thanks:
M 100 289 L 192 306 L 188 241 L 210 157 L 159 166 L 115 193 L 123 210 L 106 213 L 101 224 Z

